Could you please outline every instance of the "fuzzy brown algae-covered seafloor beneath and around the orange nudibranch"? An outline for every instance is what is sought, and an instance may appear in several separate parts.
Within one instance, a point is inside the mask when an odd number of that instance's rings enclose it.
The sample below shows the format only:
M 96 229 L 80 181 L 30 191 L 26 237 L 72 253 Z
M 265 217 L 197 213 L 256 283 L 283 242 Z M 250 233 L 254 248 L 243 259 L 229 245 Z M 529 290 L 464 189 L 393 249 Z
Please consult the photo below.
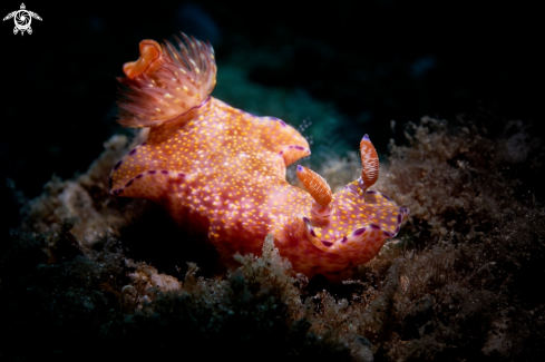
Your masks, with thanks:
M 293 275 L 271 241 L 228 272 L 213 251 L 187 247 L 158 207 L 108 193 L 130 144 L 114 136 L 87 173 L 51 179 L 26 204 L 2 243 L 2 327 L 36 344 L 4 344 L 2 356 L 532 360 L 545 323 L 545 211 L 526 186 L 544 176 L 543 138 L 520 121 L 493 128 L 409 124 L 376 189 L 410 218 L 339 285 Z M 323 165 L 333 188 L 359 168 L 356 155 Z

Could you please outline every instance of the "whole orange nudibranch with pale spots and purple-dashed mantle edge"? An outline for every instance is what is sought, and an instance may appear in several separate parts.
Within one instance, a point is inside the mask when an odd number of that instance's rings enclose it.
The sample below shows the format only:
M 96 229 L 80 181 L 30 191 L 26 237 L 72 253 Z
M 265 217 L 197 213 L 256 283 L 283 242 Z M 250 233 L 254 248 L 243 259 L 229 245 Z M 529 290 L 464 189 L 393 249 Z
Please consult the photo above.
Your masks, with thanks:
M 143 40 L 124 65 L 119 123 L 148 127 L 147 139 L 113 169 L 114 195 L 160 204 L 182 227 L 207 235 L 225 261 L 261 255 L 267 234 L 293 270 L 311 277 L 370 261 L 398 234 L 409 211 L 368 188 L 379 172 L 366 135 L 361 177 L 333 194 L 298 166 L 306 190 L 288 184 L 286 166 L 310 155 L 309 143 L 274 117 L 256 117 L 211 97 L 216 65 L 210 43 Z

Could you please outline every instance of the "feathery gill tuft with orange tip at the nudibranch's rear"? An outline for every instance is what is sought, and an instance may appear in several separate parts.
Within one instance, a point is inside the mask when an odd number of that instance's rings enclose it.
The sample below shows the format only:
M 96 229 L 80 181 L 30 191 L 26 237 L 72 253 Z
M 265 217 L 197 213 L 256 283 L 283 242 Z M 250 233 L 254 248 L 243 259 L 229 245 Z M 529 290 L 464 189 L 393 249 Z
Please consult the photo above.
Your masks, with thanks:
M 140 57 L 124 65 L 126 86 L 119 100 L 118 121 L 126 127 L 152 127 L 175 119 L 205 102 L 216 81 L 214 50 L 210 43 L 182 33 L 160 46 L 143 40 Z

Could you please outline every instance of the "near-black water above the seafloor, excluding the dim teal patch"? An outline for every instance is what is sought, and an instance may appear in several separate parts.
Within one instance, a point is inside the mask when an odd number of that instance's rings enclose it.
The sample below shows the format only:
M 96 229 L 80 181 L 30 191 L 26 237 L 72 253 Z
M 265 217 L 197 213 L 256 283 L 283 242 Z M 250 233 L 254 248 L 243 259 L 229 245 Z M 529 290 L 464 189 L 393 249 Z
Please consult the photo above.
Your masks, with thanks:
M 103 143 L 124 131 L 115 123 L 121 65 L 138 57 L 142 39 L 172 39 L 181 30 L 211 40 L 218 72 L 234 51 L 281 57 L 247 66 L 242 59 L 239 66 L 252 82 L 303 89 L 331 104 L 350 121 L 331 134 L 350 145 L 372 133 L 386 153 L 390 137 L 402 138 L 405 123 L 425 115 L 542 121 L 538 11 L 522 4 L 25 3 L 43 19 L 32 20 L 32 35 L 14 36 L 12 20 L 0 22 L 0 197 L 11 215 L 2 223 L 11 226 L 18 224 L 13 186 L 31 198 L 52 175 L 85 172 Z M 3 1 L 1 17 L 19 7 L 20 1 Z M 230 85 L 217 87 L 228 92 Z M 242 108 L 236 95 L 232 99 Z

